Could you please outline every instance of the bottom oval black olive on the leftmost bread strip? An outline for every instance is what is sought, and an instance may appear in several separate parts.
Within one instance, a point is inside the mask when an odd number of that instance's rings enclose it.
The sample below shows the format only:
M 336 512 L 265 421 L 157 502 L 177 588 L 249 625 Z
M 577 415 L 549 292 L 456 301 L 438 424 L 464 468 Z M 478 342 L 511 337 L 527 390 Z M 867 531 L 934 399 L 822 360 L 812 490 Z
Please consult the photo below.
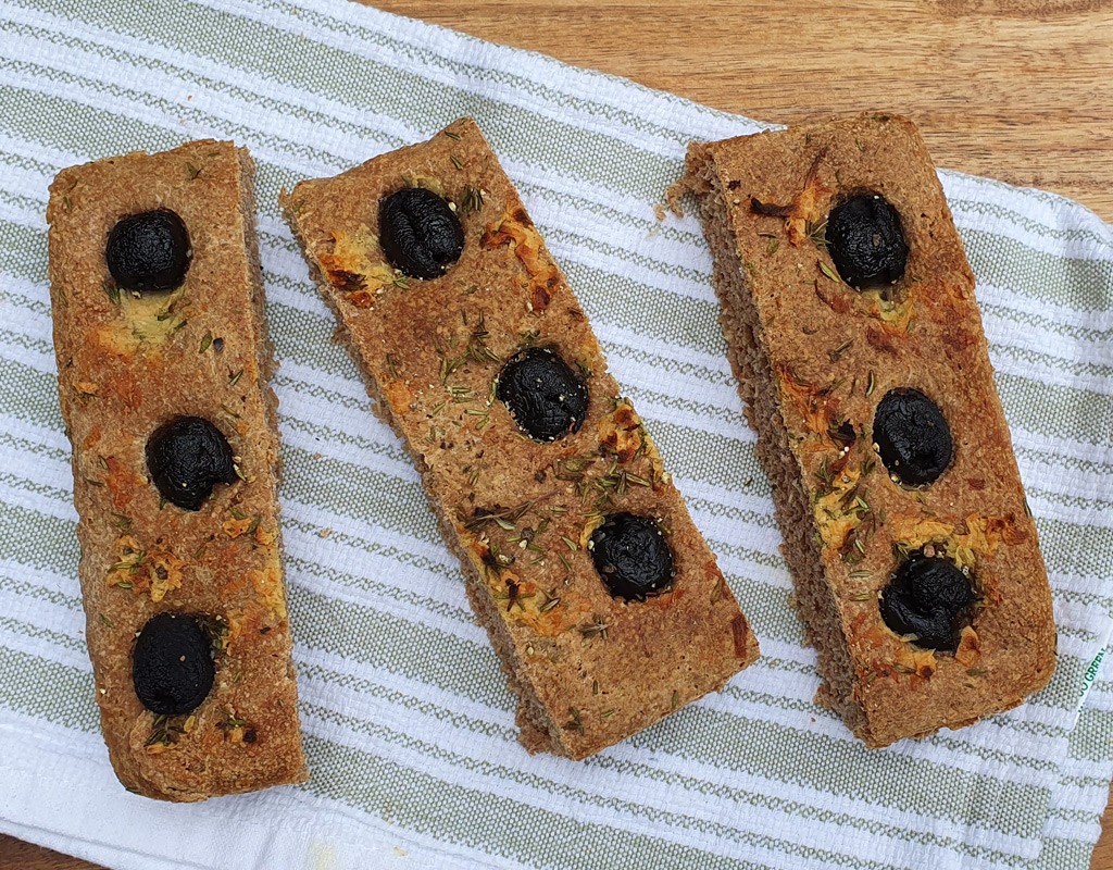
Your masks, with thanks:
M 164 612 L 147 620 L 131 654 L 131 682 L 147 710 L 191 713 L 216 677 L 213 644 L 196 616 Z

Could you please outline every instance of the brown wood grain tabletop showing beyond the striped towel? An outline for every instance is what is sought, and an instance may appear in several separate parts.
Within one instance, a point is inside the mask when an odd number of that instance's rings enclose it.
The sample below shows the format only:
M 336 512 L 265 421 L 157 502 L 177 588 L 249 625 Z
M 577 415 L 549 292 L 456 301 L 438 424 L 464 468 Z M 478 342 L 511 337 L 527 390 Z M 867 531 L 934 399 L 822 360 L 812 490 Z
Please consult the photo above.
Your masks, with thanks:
M 898 111 L 919 124 L 939 166 L 1054 190 L 1113 222 L 1113 3 L 1104 0 L 373 4 L 761 120 Z M 0 837 L 6 870 L 92 867 Z M 1091 870 L 1113 870 L 1113 835 L 1102 837 Z

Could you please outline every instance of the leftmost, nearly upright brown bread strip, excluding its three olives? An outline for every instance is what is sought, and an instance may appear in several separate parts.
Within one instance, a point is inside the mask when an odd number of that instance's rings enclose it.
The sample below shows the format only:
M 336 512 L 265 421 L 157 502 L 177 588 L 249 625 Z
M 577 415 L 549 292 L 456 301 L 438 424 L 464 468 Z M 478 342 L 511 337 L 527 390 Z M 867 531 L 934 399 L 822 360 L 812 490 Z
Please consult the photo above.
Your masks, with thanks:
M 197 801 L 306 778 L 278 526 L 277 401 L 255 238 L 254 166 L 194 141 L 63 169 L 50 187 L 50 296 L 62 417 L 73 447 L 81 589 L 105 742 L 129 790 Z M 106 261 L 116 223 L 185 223 L 184 283 L 137 294 Z M 200 417 L 238 480 L 197 511 L 150 479 L 149 436 Z M 191 714 L 137 697 L 132 647 L 155 614 L 199 617 L 216 676 Z

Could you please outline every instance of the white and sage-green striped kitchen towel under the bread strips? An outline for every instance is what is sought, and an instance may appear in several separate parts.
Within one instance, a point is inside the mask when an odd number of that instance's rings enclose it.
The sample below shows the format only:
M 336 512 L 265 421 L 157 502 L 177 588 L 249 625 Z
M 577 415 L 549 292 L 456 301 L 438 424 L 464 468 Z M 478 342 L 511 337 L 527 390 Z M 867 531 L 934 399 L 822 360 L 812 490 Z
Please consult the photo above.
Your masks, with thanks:
M 518 744 L 455 559 L 276 204 L 461 115 L 520 186 L 761 639 L 723 692 L 583 763 Z M 1113 231 L 944 174 L 1058 669 L 1007 714 L 867 751 L 812 703 L 707 246 L 691 217 L 653 214 L 690 139 L 760 127 L 345 0 L 0 3 L 0 830 L 137 870 L 1085 867 L 1113 774 Z M 313 776 L 167 805 L 120 788 L 98 733 L 43 212 L 63 166 L 209 136 L 258 164 Z

